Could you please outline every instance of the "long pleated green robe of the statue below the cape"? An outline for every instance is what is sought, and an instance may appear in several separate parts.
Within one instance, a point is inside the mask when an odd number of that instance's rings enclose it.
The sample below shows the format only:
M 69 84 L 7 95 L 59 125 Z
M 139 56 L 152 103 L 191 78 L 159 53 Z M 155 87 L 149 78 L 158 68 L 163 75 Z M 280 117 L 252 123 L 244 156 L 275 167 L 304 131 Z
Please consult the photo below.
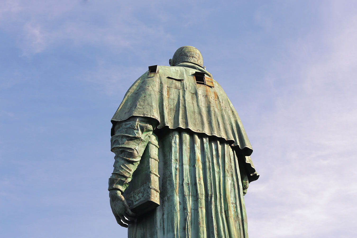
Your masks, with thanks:
M 159 146 L 160 206 L 130 224 L 128 237 L 248 237 L 240 166 L 232 147 L 189 130 L 168 130 Z

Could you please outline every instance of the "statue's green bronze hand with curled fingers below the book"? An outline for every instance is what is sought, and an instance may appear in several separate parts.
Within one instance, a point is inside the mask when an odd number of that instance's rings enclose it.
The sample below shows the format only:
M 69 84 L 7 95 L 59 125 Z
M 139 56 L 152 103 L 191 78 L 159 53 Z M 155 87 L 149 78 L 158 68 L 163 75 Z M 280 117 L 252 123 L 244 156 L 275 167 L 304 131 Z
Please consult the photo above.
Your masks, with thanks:
M 127 224 L 134 222 L 136 214 L 131 212 L 121 192 L 117 189 L 109 191 L 110 207 L 116 219 L 116 222 L 122 227 L 128 227 Z M 127 224 L 125 224 L 125 223 Z

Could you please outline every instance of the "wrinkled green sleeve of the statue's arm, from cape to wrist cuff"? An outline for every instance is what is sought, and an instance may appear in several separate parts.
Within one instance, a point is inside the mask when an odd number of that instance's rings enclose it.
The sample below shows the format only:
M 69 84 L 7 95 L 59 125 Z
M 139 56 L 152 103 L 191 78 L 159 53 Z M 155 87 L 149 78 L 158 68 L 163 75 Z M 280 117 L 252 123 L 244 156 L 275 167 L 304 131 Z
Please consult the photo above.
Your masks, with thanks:
M 141 156 L 153 131 L 156 121 L 147 117 L 130 117 L 113 125 L 111 151 L 115 153 L 114 170 L 109 178 L 109 188 L 124 192 L 131 181 L 132 173 L 139 165 Z

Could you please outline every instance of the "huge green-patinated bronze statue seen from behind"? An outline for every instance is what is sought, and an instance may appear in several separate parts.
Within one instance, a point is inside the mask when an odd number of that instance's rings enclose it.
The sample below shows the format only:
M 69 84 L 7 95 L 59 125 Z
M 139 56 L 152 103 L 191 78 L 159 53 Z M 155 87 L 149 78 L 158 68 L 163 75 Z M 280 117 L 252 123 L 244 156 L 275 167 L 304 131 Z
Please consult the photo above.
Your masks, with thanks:
M 116 221 L 129 238 L 247 238 L 243 195 L 259 175 L 241 120 L 195 47 L 169 63 L 150 66 L 112 117 Z

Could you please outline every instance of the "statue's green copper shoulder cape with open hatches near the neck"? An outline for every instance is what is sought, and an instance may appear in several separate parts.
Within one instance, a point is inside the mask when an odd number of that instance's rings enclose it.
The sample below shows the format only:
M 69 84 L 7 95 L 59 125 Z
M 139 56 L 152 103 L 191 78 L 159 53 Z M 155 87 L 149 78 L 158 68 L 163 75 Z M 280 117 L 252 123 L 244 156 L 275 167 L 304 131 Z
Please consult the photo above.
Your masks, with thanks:
M 197 71 L 212 80 L 210 73 L 190 63 L 157 66 L 153 77 L 145 72 L 126 92 L 111 122 L 144 116 L 156 119 L 159 129 L 180 127 L 223 138 L 240 148 L 249 181 L 258 179 L 250 158 L 253 150 L 235 108 L 215 80 L 213 87 L 197 84 Z

